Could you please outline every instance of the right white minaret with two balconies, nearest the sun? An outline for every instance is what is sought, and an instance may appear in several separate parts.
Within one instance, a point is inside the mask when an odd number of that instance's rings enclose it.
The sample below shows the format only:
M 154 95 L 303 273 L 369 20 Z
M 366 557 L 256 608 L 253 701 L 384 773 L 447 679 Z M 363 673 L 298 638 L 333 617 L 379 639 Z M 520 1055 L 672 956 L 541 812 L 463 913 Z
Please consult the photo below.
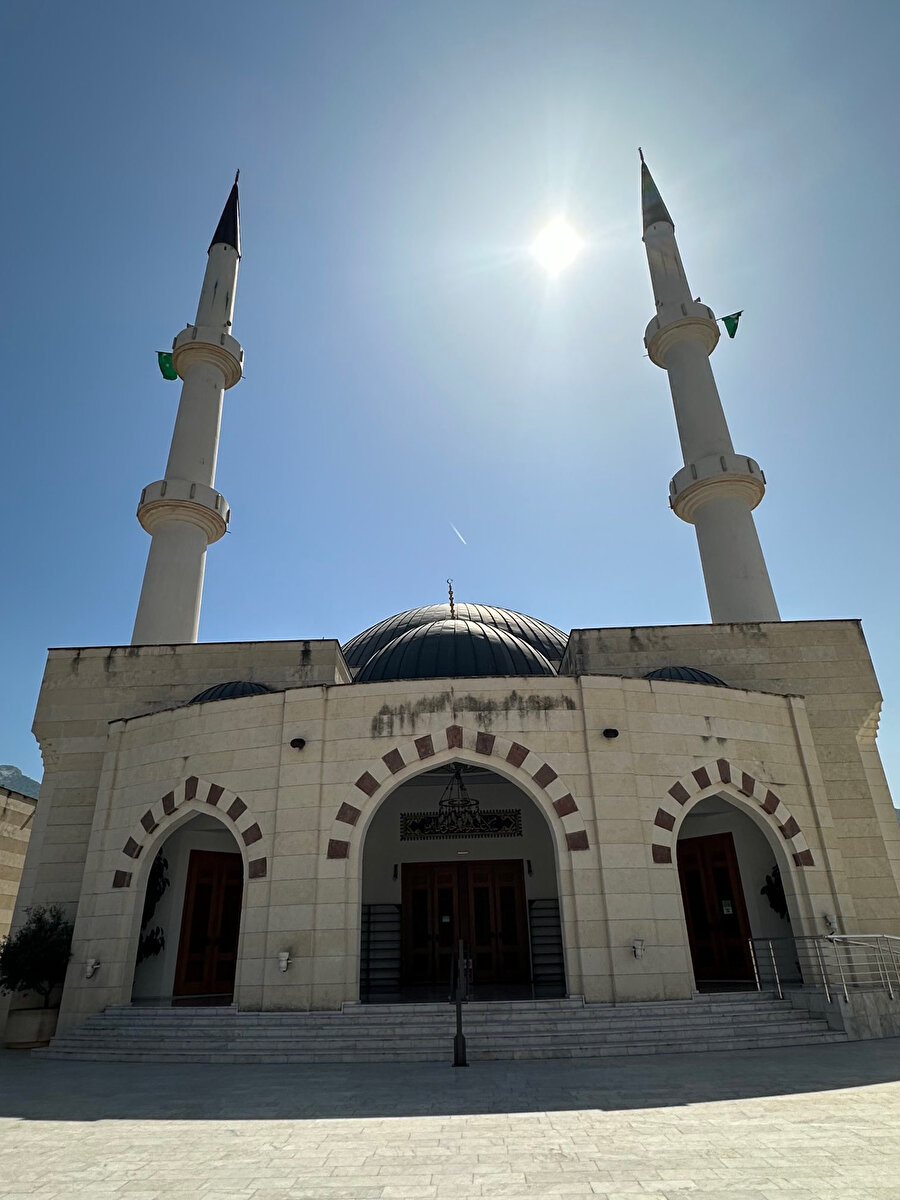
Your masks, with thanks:
M 719 341 L 710 308 L 694 300 L 674 222 L 641 155 L 643 241 L 656 300 L 650 360 L 668 374 L 684 467 L 670 484 L 676 515 L 697 530 L 714 622 L 779 620 L 752 510 L 766 491 L 758 463 L 734 454 L 709 365 Z

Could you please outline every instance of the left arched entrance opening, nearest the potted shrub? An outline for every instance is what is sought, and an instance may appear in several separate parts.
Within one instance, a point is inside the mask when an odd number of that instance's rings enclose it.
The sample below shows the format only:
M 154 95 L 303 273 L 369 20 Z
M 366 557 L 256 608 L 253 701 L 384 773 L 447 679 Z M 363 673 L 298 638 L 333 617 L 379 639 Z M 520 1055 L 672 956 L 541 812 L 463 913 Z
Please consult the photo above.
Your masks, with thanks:
M 132 1003 L 229 1004 L 244 860 L 232 833 L 199 814 L 169 834 L 148 875 Z

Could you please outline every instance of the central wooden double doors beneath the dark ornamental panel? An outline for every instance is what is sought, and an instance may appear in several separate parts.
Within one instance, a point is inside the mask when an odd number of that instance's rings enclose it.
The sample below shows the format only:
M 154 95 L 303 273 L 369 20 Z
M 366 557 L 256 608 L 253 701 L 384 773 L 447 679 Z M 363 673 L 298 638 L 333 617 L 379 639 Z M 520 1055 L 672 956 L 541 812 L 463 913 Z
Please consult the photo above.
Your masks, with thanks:
M 407 989 L 443 1000 L 460 940 L 472 959 L 472 983 L 485 997 L 492 986 L 530 982 L 528 917 L 521 860 L 404 863 L 401 979 Z

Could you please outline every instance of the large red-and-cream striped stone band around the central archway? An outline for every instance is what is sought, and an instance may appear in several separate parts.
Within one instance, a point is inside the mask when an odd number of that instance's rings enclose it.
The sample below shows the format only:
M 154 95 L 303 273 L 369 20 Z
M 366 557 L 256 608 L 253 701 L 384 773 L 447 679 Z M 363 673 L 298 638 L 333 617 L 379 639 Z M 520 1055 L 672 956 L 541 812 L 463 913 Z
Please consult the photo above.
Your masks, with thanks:
M 557 772 L 541 755 L 529 750 L 521 742 L 484 730 L 467 730 L 462 725 L 448 725 L 439 733 L 425 733 L 394 746 L 380 760 L 370 764 L 353 785 L 352 796 L 338 808 L 332 826 L 331 836 L 325 851 L 328 858 L 348 858 L 353 828 L 362 816 L 366 805 L 373 800 L 395 775 L 407 767 L 416 766 L 433 758 L 446 750 L 469 750 L 496 763 L 512 767 L 514 774 L 529 776 L 546 794 L 550 806 L 563 827 L 565 844 L 569 851 L 587 850 L 589 844 L 584 820 L 577 800 L 559 778 Z

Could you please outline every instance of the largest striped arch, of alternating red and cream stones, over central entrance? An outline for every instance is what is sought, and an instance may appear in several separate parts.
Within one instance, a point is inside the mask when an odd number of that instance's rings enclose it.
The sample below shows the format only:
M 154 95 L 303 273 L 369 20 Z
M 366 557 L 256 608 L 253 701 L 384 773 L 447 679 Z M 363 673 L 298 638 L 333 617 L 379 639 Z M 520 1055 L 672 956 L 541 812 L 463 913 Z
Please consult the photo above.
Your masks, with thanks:
M 422 770 L 431 769 L 431 766 L 438 766 L 455 756 L 463 757 L 466 762 L 487 760 L 493 770 L 505 775 L 538 804 L 560 848 L 565 847 L 572 853 L 588 850 L 590 842 L 578 803 L 541 755 L 521 742 L 486 733 L 484 730 L 449 725 L 440 733 L 425 733 L 400 743 L 359 776 L 350 797 L 356 803 L 344 800 L 334 816 L 325 848 L 326 857 L 349 858 L 354 842 L 359 841 L 359 830 L 368 823 L 389 792 Z M 360 818 L 362 826 L 359 823 Z

